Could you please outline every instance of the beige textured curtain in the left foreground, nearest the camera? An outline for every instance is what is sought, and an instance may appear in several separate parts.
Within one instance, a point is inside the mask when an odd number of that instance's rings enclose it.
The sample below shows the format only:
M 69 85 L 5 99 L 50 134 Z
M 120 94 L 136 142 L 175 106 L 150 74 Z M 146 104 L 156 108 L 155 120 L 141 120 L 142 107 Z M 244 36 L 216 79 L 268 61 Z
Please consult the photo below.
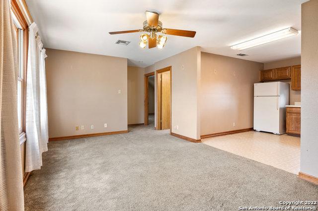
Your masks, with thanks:
M 17 46 L 10 1 L 0 0 L 0 210 L 24 210 L 17 117 Z

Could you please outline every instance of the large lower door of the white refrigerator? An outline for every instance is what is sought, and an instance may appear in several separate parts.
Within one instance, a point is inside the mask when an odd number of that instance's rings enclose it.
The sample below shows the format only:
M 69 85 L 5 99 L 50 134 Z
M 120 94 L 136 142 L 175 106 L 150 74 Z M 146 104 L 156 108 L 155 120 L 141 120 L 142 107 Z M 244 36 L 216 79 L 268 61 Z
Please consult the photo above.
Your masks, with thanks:
M 279 97 L 254 97 L 254 130 L 280 134 Z

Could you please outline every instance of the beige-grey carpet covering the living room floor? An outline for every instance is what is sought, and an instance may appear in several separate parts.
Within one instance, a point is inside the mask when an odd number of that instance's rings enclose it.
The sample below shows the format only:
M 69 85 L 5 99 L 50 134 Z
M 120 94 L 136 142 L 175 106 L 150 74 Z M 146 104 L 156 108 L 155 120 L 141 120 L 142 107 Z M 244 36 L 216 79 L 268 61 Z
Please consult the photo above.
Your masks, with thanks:
M 151 126 L 56 141 L 25 186 L 26 210 L 238 210 L 318 201 L 295 174 Z

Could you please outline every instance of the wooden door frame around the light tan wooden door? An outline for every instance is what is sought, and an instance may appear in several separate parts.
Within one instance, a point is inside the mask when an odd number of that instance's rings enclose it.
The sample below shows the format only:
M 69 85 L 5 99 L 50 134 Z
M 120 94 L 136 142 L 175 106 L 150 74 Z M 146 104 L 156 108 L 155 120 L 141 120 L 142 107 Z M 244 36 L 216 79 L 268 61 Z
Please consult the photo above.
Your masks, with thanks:
M 159 73 L 170 71 L 170 134 L 171 134 L 171 122 L 172 122 L 172 68 L 171 66 L 164 67 L 156 70 L 156 87 L 157 87 L 157 127 L 156 130 L 161 130 L 160 116 L 161 116 L 161 84 L 159 83 Z

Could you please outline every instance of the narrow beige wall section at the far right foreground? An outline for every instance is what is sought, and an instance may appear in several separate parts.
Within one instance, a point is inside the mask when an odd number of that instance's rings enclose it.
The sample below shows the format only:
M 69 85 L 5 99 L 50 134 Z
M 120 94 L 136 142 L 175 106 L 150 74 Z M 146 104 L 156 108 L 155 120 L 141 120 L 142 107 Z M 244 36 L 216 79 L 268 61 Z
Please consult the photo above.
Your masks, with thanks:
M 318 0 L 302 4 L 302 115 L 303 173 L 318 177 Z

